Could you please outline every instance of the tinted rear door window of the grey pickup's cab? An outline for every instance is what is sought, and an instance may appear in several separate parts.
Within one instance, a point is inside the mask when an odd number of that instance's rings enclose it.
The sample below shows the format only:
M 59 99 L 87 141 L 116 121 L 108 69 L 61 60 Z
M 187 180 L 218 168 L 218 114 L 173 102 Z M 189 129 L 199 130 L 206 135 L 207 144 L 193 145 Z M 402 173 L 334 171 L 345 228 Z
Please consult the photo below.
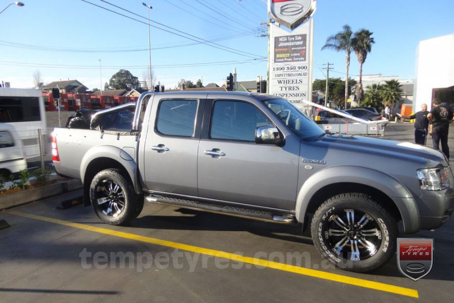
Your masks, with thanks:
M 164 135 L 192 137 L 197 114 L 197 100 L 162 100 L 156 129 Z

